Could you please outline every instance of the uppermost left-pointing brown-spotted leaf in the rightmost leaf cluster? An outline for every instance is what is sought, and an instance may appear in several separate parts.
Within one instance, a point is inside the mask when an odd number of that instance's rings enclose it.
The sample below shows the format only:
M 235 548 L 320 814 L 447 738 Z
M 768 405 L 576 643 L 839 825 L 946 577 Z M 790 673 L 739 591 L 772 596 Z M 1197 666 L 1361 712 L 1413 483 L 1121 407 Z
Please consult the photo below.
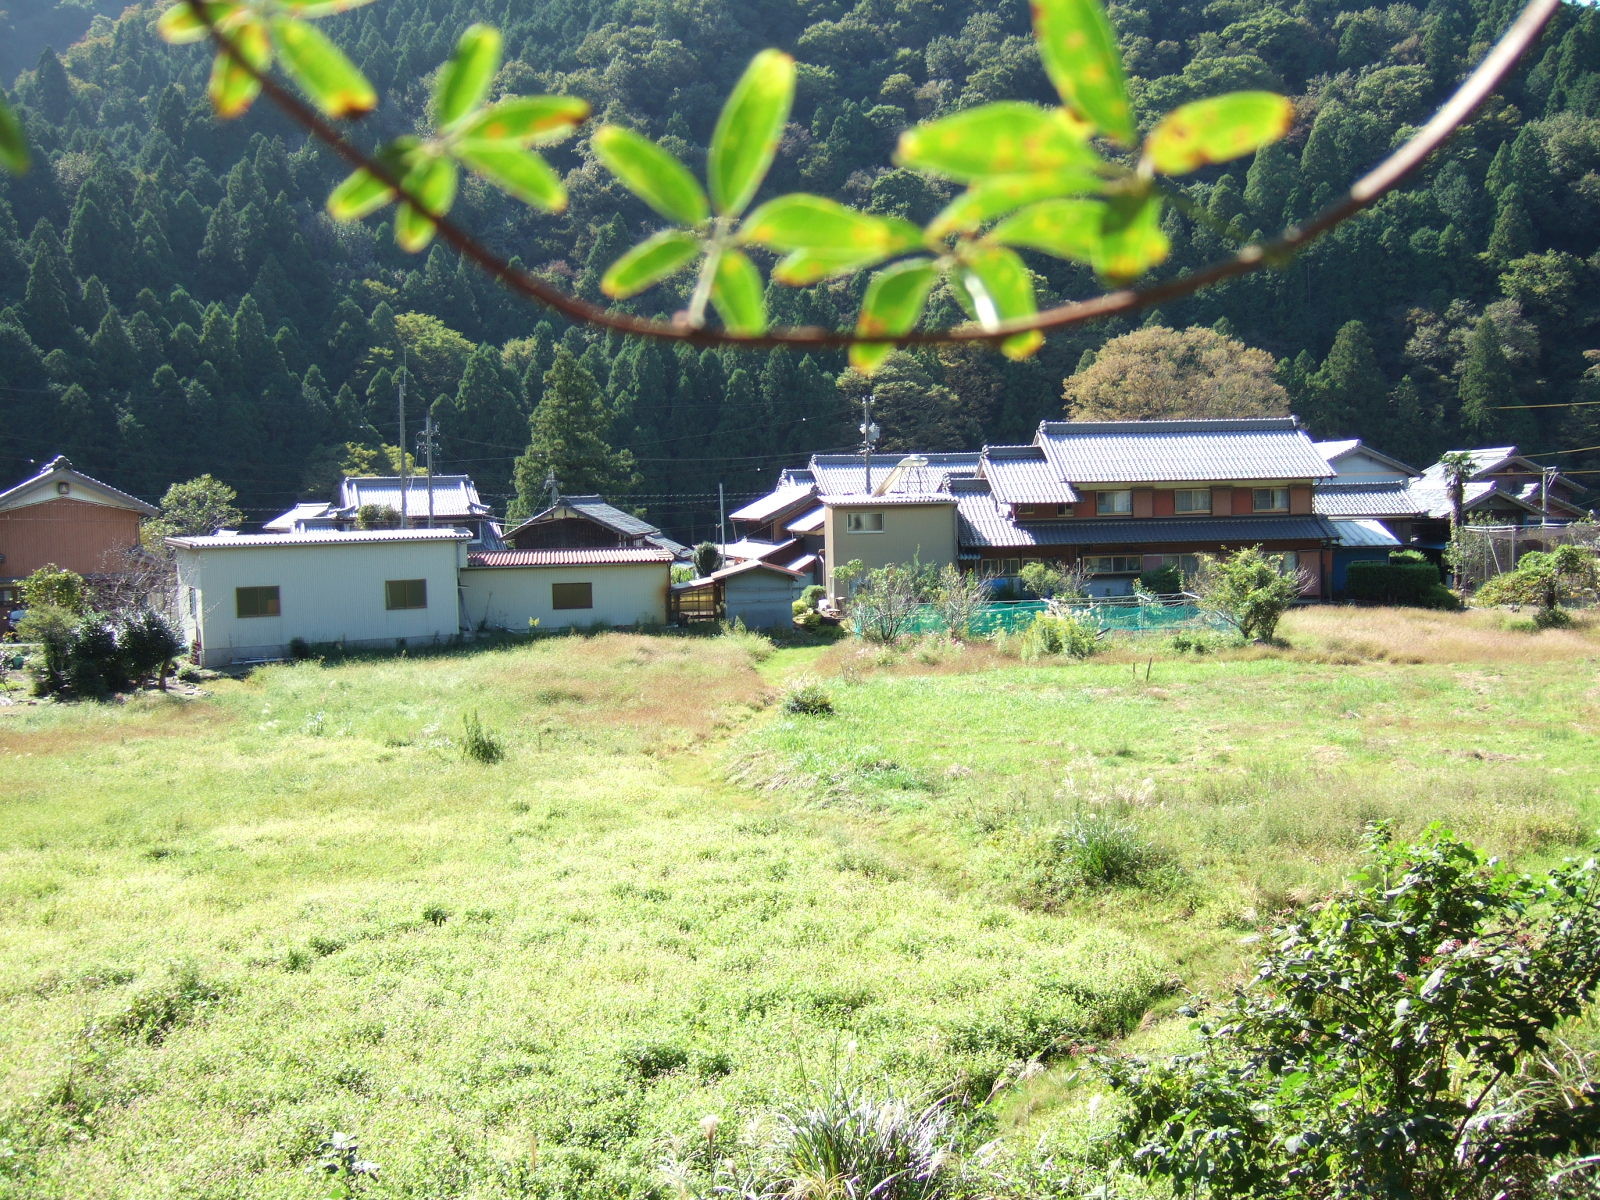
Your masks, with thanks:
M 1102 165 L 1088 130 L 1064 109 L 1021 101 L 984 104 L 901 134 L 902 166 L 957 182 Z

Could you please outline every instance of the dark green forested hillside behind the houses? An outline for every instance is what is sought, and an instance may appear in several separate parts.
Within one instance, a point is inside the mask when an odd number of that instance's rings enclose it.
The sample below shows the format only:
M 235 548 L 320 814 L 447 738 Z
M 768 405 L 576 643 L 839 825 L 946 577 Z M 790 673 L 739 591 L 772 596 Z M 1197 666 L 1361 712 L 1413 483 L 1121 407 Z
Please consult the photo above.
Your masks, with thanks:
M 67 11 L 70 10 L 70 11 Z M 59 5 L 67 29 L 82 5 Z M 37 166 L 0 181 L 0 475 L 67 453 L 141 494 L 214 472 L 253 518 L 338 474 L 346 443 L 397 440 L 395 392 L 438 419 L 442 469 L 504 506 L 541 429 L 597 432 L 634 462 L 574 466 L 562 483 L 627 488 L 680 536 L 707 531 L 717 483 L 854 442 L 838 355 L 741 354 L 566 328 L 435 246 L 413 258 L 378 219 L 336 226 L 339 171 L 270 106 L 218 122 L 208 56 L 152 30 L 155 6 L 98 19 L 43 51 L 11 90 Z M 1173 218 L 1181 270 L 1227 248 L 1214 226 L 1274 232 L 1309 214 L 1424 120 L 1517 11 L 1514 0 L 1133 0 L 1112 5 L 1146 115 L 1229 88 L 1296 98 L 1291 136 L 1234 171 L 1197 176 L 1211 222 Z M 982 101 L 1048 99 L 1024 0 L 381 0 L 326 24 L 384 96 L 363 139 L 413 128 L 430 72 L 470 21 L 499 24 L 499 86 L 565 91 L 688 158 L 747 58 L 797 54 L 800 91 L 770 189 L 811 189 L 926 218 L 925 178 L 893 170 L 907 123 Z M 18 16 L 0 16 L 21 27 Z M 24 30 L 26 34 L 26 30 Z M 22 35 L 19 35 L 22 37 Z M 34 38 L 43 34 L 26 34 Z M 597 298 L 603 267 L 653 226 L 587 150 L 555 147 L 571 208 L 547 218 L 469 186 L 458 214 L 496 248 Z M 1570 6 L 1512 88 L 1410 190 L 1283 270 L 1158 314 L 1218 325 L 1280 360 L 1315 432 L 1362 435 L 1411 461 L 1458 443 L 1534 453 L 1600 443 L 1600 14 Z M 1042 302 L 1093 278 L 1038 259 Z M 854 283 L 789 290 L 782 322 L 848 322 Z M 646 293 L 670 310 L 683 296 Z M 954 304 L 936 304 L 954 318 Z M 890 448 L 1027 440 L 1061 413 L 1061 381 L 1128 323 L 1051 338 L 1032 362 L 952 349 L 891 360 Z M 558 349 L 576 357 L 550 373 Z M 563 355 L 565 360 L 565 355 Z M 550 387 L 546 378 L 550 376 Z M 589 378 L 594 379 L 590 392 Z M 549 395 L 546 394 L 549 390 Z M 1501 405 L 1562 405 L 1501 408 Z M 1568 454 L 1597 467 L 1600 454 Z M 709 498 L 709 502 L 707 502 Z

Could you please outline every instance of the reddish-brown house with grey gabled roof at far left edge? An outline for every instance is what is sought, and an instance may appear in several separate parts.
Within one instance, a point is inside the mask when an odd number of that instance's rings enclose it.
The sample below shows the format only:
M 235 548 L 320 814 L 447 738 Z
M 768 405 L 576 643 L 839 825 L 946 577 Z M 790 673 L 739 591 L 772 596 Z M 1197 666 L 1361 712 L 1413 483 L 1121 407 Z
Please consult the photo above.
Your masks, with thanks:
M 85 579 L 118 574 L 122 555 L 139 544 L 139 523 L 154 515 L 138 496 L 51 459 L 0 491 L 0 608 L 14 608 L 18 584 L 50 563 Z

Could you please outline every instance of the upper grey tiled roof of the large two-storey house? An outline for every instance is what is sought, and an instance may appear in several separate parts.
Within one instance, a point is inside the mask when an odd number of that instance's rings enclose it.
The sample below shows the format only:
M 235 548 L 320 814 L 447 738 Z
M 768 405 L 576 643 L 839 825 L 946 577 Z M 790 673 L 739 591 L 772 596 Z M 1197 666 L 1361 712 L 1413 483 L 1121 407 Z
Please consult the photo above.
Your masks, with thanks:
M 1330 478 L 1294 418 L 1237 421 L 1045 421 L 1056 472 L 1074 485 Z

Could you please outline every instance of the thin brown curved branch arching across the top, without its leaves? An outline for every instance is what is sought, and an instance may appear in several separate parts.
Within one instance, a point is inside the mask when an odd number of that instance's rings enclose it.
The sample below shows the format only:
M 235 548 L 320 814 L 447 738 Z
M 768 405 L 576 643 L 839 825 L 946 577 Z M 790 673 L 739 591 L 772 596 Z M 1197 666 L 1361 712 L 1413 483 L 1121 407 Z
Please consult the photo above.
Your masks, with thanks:
M 397 197 L 416 208 L 419 213 L 432 213 L 408 192 L 392 171 L 384 168 L 371 155 L 350 142 L 338 128 L 306 104 L 299 96 L 278 83 L 266 70 L 248 62 L 234 46 L 232 40 L 222 34 L 211 21 L 202 0 L 182 0 L 189 5 L 195 19 L 210 30 L 213 43 L 219 53 L 226 54 L 238 67 L 250 72 L 261 83 L 262 94 L 283 110 L 296 125 L 304 128 L 312 138 L 320 141 L 334 155 L 352 168 L 366 170 L 389 184 Z M 1168 301 L 1192 296 L 1194 293 L 1222 280 L 1237 278 L 1261 270 L 1294 251 L 1307 246 L 1330 229 L 1344 224 L 1357 213 L 1371 208 L 1378 200 L 1395 190 L 1450 138 L 1459 131 L 1477 112 L 1478 107 L 1506 82 L 1523 54 L 1538 42 L 1544 27 L 1560 10 L 1562 0 L 1528 0 L 1526 8 L 1512 22 L 1483 62 L 1478 64 L 1456 93 L 1434 114 L 1434 117 L 1400 149 L 1384 158 L 1378 166 L 1357 179 L 1349 190 L 1334 203 L 1323 208 L 1309 221 L 1290 226 L 1282 234 L 1267 242 L 1245 246 L 1227 259 L 1219 259 L 1206 267 L 1187 275 L 1152 283 L 1142 288 L 1122 288 L 1109 291 L 1093 299 L 1072 301 L 1054 309 L 1046 309 L 1034 317 L 1006 322 L 990 330 L 978 326 L 962 326 L 955 330 L 922 330 L 893 339 L 858 338 L 854 333 L 840 330 L 822 330 L 816 326 L 779 328 L 758 336 L 744 336 L 725 330 L 696 328 L 685 320 L 656 320 L 635 317 L 626 312 L 613 312 L 590 301 L 571 296 L 560 288 L 546 283 L 533 272 L 514 267 L 504 258 L 483 245 L 470 232 L 458 226 L 448 216 L 432 218 L 438 238 L 470 259 L 485 274 L 493 277 L 509 291 L 542 304 L 571 322 L 595 325 L 603 330 L 632 334 L 638 338 L 658 338 L 666 341 L 683 341 L 694 346 L 739 346 L 747 349 L 774 349 L 795 346 L 806 349 L 832 349 L 854 346 L 864 341 L 894 341 L 907 346 L 952 344 L 952 342 L 1002 342 L 1018 333 L 1030 330 L 1061 330 L 1070 325 L 1117 317 L 1139 309 L 1165 304 Z

